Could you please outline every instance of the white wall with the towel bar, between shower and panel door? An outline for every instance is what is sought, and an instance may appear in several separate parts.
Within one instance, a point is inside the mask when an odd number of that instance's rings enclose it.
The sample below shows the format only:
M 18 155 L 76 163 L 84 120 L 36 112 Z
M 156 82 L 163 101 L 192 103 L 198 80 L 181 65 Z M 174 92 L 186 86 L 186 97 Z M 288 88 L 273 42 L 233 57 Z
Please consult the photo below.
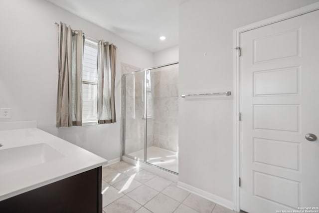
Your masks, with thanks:
M 181 4 L 179 93 L 233 91 L 233 29 L 316 1 Z M 179 181 L 229 201 L 233 201 L 233 104 L 232 97 L 179 99 Z

